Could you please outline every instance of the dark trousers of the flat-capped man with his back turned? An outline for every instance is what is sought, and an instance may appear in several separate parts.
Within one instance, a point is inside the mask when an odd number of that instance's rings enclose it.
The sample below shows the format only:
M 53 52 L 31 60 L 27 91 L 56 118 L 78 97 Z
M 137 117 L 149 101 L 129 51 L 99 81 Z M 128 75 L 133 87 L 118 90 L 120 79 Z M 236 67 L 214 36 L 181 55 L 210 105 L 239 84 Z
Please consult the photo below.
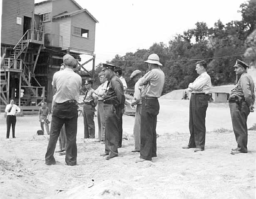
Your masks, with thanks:
M 71 103 L 55 103 L 52 111 L 50 139 L 45 154 L 45 163 L 47 165 L 55 164 L 53 157 L 56 143 L 60 135 L 60 129 L 65 124 L 67 136 L 67 151 L 65 161 L 67 165 L 76 165 L 77 163 L 77 105 Z

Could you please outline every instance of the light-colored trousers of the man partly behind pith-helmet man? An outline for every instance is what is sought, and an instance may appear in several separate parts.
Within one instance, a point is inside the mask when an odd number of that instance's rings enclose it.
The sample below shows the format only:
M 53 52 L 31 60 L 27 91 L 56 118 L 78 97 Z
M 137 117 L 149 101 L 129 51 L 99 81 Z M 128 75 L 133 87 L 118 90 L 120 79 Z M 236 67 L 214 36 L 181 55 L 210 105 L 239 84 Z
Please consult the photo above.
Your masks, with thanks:
M 142 115 L 142 104 L 137 104 L 135 121 L 133 127 L 133 137 L 135 142 L 134 150 L 140 150 L 140 121 Z

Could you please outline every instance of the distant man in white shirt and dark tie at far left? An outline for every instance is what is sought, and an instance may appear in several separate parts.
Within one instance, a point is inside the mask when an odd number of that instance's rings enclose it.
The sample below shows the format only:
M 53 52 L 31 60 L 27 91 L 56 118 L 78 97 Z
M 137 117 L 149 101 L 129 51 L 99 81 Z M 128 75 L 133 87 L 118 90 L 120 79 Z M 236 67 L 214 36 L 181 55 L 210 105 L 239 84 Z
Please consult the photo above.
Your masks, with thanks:
M 6 138 L 9 138 L 10 135 L 10 128 L 12 125 L 12 138 L 15 137 L 15 124 L 16 124 L 16 114 L 20 112 L 20 108 L 14 104 L 14 100 L 10 100 L 10 104 L 7 104 L 5 107 L 6 117 L 6 124 L 7 124 L 7 132 Z

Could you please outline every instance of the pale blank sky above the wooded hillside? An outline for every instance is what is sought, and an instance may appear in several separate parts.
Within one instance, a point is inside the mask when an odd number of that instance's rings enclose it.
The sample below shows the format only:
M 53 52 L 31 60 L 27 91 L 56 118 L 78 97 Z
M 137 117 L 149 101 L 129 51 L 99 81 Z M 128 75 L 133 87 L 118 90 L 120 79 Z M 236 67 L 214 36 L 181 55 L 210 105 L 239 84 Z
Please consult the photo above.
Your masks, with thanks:
M 42 0 L 35 0 L 41 2 Z M 176 34 L 206 22 L 213 27 L 241 20 L 244 0 L 76 0 L 98 21 L 95 33 L 95 65 L 137 49 L 149 49 L 155 42 L 168 42 Z M 81 56 L 82 63 L 89 56 Z M 86 65 L 92 68 L 92 62 Z

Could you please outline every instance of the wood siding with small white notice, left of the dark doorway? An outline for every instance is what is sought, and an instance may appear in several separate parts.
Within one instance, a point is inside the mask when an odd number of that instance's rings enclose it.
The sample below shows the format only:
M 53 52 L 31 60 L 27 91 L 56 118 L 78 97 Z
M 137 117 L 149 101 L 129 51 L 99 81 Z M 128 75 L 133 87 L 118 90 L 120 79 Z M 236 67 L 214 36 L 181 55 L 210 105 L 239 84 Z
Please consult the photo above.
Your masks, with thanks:
M 23 36 L 23 17 L 32 17 L 34 0 L 2 0 L 1 43 L 16 45 Z M 22 24 L 16 24 L 17 17 Z

